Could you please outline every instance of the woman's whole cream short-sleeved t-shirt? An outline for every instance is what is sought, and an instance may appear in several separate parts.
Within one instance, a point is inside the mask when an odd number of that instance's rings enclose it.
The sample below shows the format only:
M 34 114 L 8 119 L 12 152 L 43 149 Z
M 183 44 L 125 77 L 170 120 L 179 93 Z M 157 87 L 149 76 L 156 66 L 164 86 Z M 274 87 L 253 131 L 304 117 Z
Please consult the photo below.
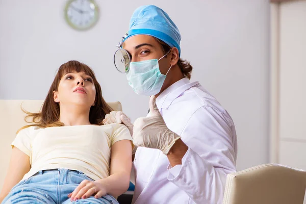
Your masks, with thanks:
M 123 124 L 28 127 L 21 130 L 12 146 L 30 157 L 28 179 L 40 170 L 79 170 L 93 180 L 110 174 L 111 146 L 119 140 L 133 140 Z M 132 145 L 132 143 L 131 143 Z

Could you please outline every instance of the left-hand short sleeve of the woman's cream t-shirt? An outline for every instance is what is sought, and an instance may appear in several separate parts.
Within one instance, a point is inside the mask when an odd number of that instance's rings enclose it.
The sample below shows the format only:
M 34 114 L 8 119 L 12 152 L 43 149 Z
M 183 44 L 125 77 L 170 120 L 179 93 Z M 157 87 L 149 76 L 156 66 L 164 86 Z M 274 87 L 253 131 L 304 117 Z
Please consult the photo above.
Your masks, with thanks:
M 32 145 L 31 145 L 31 130 L 33 127 L 27 127 L 19 131 L 16 138 L 12 142 L 12 148 L 15 146 L 20 149 L 24 154 L 30 157 Z

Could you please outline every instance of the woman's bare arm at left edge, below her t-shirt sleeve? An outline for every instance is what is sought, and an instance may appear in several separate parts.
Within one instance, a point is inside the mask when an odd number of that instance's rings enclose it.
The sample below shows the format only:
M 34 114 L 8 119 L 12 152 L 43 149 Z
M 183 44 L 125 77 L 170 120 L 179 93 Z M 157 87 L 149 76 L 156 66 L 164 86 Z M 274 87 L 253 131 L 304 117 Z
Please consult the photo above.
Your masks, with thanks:
M 17 147 L 13 147 L 9 170 L 0 193 L 0 203 L 30 169 L 30 157 Z

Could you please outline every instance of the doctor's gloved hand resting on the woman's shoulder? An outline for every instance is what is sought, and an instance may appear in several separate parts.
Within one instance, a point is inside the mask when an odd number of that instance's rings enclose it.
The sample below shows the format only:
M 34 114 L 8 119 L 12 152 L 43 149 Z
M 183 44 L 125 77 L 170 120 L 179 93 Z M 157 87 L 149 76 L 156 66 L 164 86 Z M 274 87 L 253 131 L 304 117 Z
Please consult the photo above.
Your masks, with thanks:
M 133 123 L 123 112 L 121 111 L 112 111 L 105 115 L 105 119 L 102 121 L 103 124 L 111 124 L 111 123 L 123 123 L 130 131 L 131 135 L 133 135 Z

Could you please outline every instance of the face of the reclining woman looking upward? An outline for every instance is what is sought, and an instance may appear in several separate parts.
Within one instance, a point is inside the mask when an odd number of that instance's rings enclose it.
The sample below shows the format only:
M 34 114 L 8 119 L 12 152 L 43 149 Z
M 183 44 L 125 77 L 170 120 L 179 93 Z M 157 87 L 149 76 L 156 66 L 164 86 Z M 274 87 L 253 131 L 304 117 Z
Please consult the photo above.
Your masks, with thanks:
M 57 91 L 54 91 L 54 101 L 60 105 L 82 105 L 90 109 L 94 106 L 95 86 L 93 79 L 84 72 L 66 73 Z

